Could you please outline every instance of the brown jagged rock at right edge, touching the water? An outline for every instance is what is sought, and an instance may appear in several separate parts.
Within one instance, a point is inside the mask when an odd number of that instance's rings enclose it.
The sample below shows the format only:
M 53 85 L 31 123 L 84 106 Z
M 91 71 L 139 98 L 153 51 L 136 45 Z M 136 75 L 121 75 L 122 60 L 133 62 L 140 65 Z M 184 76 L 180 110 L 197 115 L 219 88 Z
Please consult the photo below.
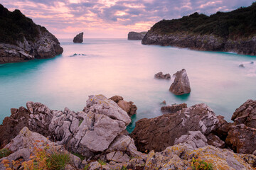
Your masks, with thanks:
M 245 124 L 250 128 L 256 128 L 256 101 L 247 100 L 235 110 L 231 120 L 236 124 Z

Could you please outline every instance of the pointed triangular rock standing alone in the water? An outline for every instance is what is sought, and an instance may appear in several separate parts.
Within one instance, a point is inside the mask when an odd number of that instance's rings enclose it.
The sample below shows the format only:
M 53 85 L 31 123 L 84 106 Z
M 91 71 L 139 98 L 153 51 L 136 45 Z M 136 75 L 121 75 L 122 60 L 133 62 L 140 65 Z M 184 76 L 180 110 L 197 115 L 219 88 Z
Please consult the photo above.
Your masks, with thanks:
M 169 91 L 176 95 L 189 94 L 191 92 L 191 87 L 186 74 L 186 69 L 181 69 L 181 71 L 174 74 L 174 83 L 171 84 Z

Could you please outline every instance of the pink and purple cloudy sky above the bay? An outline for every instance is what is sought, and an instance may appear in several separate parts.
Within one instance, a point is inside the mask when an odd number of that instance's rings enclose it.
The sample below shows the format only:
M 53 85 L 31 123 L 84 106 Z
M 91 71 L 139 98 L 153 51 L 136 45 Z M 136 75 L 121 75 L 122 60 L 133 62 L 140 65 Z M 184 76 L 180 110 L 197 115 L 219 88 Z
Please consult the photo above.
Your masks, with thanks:
M 18 8 L 57 38 L 127 38 L 129 31 L 147 31 L 162 19 L 198 12 L 206 15 L 250 6 L 255 0 L 1 0 Z

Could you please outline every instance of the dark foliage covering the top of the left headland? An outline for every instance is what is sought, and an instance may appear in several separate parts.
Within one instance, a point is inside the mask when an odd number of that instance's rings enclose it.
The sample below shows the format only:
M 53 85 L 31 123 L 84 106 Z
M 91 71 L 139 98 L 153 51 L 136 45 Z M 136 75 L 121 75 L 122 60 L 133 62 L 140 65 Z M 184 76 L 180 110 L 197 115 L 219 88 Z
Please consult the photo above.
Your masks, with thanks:
M 31 18 L 27 18 L 17 9 L 10 12 L 0 4 L 0 42 L 15 44 L 16 40 L 22 41 L 24 36 L 26 40 L 33 41 L 38 34 L 38 26 Z

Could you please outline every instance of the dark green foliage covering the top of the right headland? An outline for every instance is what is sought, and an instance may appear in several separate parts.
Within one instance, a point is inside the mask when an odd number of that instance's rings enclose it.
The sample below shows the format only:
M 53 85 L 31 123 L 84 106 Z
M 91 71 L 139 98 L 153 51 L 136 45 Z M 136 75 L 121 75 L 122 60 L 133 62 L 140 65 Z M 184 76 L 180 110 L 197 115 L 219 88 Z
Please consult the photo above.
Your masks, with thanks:
M 223 38 L 242 38 L 256 34 L 256 2 L 231 12 L 213 15 L 193 13 L 179 19 L 162 20 L 151 28 L 151 33 L 213 34 Z

